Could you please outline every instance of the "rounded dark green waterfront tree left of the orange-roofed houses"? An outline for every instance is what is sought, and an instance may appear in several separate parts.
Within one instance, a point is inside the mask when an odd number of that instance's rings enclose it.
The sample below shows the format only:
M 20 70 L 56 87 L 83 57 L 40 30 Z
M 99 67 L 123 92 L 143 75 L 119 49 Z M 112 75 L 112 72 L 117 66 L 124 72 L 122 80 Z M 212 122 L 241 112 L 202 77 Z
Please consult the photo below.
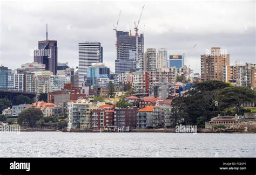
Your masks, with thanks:
M 28 108 L 23 110 L 18 116 L 18 124 L 26 127 L 35 127 L 36 121 L 43 117 L 43 113 L 37 108 Z

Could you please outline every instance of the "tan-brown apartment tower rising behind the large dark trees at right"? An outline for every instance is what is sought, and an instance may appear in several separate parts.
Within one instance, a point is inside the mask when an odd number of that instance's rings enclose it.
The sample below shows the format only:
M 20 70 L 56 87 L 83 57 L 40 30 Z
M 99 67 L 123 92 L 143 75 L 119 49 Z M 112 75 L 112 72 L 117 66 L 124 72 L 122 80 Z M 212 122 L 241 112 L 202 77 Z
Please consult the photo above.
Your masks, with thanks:
M 230 55 L 220 47 L 212 47 L 210 53 L 201 55 L 201 80 L 223 81 L 223 66 L 230 66 Z

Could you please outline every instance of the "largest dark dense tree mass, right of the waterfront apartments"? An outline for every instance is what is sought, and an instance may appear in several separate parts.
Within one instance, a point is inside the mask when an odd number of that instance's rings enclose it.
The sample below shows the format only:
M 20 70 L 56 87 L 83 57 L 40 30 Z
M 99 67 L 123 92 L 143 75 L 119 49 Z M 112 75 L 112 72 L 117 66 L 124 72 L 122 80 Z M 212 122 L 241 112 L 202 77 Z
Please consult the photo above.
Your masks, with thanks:
M 186 97 L 176 97 L 172 101 L 173 124 L 197 124 L 203 127 L 205 121 L 218 115 L 217 96 L 229 84 L 217 81 L 195 83 Z

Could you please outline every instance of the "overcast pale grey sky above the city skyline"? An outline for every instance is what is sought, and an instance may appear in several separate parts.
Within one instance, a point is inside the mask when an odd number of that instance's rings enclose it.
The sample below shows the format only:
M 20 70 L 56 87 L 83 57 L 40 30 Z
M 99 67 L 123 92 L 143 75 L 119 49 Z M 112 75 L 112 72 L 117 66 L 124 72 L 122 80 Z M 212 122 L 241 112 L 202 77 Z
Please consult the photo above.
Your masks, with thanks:
M 48 36 L 58 41 L 58 61 L 78 66 L 78 43 L 97 41 L 103 62 L 114 72 L 115 33 L 132 30 L 145 4 L 139 33 L 144 48 L 166 47 L 168 55 L 188 53 L 186 62 L 200 72 L 200 55 L 221 47 L 235 61 L 255 64 L 255 1 L 1 1 L 0 64 L 16 69 L 32 62 L 31 50 Z

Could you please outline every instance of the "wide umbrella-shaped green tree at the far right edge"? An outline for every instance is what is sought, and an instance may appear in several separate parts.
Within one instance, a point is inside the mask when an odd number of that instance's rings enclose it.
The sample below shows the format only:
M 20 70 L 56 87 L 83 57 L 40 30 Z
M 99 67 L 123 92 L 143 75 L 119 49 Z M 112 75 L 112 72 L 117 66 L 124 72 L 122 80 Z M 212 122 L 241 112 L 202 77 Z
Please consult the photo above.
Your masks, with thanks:
M 231 86 L 221 90 L 217 96 L 221 108 L 235 107 L 240 113 L 241 104 L 256 102 L 256 92 L 248 87 Z

